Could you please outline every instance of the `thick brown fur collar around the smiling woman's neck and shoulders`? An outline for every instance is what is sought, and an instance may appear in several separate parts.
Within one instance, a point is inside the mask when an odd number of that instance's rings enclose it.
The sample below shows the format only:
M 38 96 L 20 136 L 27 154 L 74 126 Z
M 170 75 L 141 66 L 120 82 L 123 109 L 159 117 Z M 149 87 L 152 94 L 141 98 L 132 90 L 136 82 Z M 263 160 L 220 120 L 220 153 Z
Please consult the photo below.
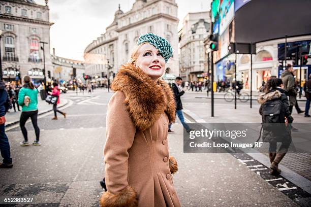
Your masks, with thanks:
M 164 113 L 170 122 L 175 121 L 175 98 L 169 85 L 162 79 L 155 83 L 134 64 L 121 65 L 111 89 L 125 94 L 127 111 L 138 129 L 146 130 Z

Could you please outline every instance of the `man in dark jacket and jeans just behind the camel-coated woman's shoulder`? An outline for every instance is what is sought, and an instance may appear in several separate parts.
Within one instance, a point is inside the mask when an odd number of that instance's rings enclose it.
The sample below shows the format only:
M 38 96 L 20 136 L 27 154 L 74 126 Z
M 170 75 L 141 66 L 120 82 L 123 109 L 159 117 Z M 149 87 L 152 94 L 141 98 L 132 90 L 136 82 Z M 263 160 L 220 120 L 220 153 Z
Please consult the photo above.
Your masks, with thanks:
M 174 93 L 174 97 L 175 97 L 175 101 L 176 101 L 176 114 L 182 124 L 182 126 L 185 128 L 185 130 L 187 132 L 190 132 L 192 129 L 188 126 L 188 124 L 186 124 L 184 122 L 184 118 L 183 118 L 183 114 L 182 114 L 182 103 L 181 103 L 181 99 L 180 96 L 182 96 L 184 94 L 184 91 L 179 87 L 182 83 L 182 78 L 180 77 L 176 77 L 175 79 L 175 83 L 173 83 L 172 85 L 172 90 Z M 173 132 L 171 130 L 171 124 L 169 125 L 169 132 Z

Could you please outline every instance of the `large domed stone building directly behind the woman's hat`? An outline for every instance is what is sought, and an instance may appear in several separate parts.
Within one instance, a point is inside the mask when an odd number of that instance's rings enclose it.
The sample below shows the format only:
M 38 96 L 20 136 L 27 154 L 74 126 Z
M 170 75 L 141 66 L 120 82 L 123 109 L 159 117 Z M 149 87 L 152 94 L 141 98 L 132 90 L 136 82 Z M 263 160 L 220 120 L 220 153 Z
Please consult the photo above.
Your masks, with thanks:
M 106 32 L 85 48 L 85 73 L 100 77 L 102 73 L 106 76 L 109 70 L 112 78 L 119 66 L 130 59 L 140 35 L 152 32 L 172 45 L 173 57 L 167 63 L 166 72 L 178 76 L 178 21 L 175 0 L 136 0 L 126 13 L 119 6 Z

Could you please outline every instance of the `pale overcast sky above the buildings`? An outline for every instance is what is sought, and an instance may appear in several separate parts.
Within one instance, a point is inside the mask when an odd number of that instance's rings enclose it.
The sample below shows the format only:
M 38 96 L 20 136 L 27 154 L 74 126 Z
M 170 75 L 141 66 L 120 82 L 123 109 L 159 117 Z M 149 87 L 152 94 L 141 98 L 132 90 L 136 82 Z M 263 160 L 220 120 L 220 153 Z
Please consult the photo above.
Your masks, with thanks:
M 44 0 L 35 0 L 45 5 Z M 50 0 L 50 21 L 54 22 L 50 30 L 51 50 L 55 48 L 57 56 L 84 60 L 85 47 L 105 32 L 112 23 L 114 13 L 121 5 L 128 12 L 135 0 Z M 210 0 L 176 0 L 178 4 L 179 26 L 189 12 L 210 10 Z

